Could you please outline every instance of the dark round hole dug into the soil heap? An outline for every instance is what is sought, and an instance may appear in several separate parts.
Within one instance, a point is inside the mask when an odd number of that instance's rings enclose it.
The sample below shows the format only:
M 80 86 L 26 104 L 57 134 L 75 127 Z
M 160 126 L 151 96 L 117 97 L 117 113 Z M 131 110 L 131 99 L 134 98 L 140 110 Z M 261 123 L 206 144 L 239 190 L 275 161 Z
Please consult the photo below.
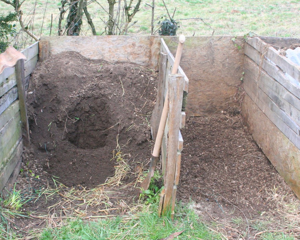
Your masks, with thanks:
M 82 149 L 105 146 L 110 127 L 108 112 L 103 99 L 82 100 L 73 111 L 69 111 L 73 119 L 67 125 L 69 142 Z

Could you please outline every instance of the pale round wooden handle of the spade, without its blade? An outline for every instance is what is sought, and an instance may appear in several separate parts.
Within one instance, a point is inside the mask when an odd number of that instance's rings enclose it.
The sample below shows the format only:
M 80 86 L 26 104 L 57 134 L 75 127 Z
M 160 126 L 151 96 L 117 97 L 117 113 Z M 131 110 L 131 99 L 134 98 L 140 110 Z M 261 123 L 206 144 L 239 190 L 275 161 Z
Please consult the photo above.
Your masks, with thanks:
M 177 51 L 176 51 L 176 56 L 175 56 L 175 61 L 174 61 L 173 69 L 172 69 L 172 74 L 176 74 L 177 71 L 178 71 L 178 67 L 179 67 L 180 58 L 181 58 L 181 55 L 182 55 L 183 43 L 184 42 L 185 42 L 184 35 L 180 35 L 179 36 L 178 47 L 177 47 Z M 161 142 L 163 140 L 163 135 L 164 135 L 164 129 L 165 129 L 166 122 L 167 122 L 168 109 L 169 109 L 168 105 L 169 105 L 169 103 L 168 103 L 168 92 L 167 92 L 164 108 L 163 108 L 163 111 L 161 113 L 161 121 L 159 122 L 159 126 L 158 126 L 158 131 L 157 131 L 157 136 L 156 136 L 156 140 L 155 140 L 155 144 L 154 144 L 154 149 L 153 149 L 153 152 L 152 152 L 153 157 L 158 157 L 159 156 L 159 152 L 160 152 L 160 148 L 161 148 Z

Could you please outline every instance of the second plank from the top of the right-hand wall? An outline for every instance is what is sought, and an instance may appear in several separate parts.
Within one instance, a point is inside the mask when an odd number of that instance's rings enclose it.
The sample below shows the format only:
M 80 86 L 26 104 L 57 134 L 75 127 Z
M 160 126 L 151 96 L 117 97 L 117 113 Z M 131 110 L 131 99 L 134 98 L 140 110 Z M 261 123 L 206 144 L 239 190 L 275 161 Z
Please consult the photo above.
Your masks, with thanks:
M 257 65 L 262 67 L 270 76 L 276 79 L 283 87 L 289 90 L 297 98 L 300 98 L 300 82 L 288 79 L 283 71 L 272 62 L 262 58 L 260 52 L 249 44 L 245 44 L 245 54 L 251 58 Z

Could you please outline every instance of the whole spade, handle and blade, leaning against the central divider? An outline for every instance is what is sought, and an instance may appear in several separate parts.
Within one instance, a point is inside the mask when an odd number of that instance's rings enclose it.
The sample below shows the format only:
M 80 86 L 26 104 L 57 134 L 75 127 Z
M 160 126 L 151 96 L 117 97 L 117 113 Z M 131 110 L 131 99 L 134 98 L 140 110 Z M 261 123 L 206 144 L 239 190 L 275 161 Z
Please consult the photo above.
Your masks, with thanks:
M 185 37 L 184 37 L 184 35 L 181 35 L 179 37 L 179 42 L 178 42 L 177 52 L 176 52 L 175 61 L 174 61 L 173 69 L 172 69 L 172 74 L 176 74 L 177 71 L 178 71 L 178 67 L 179 67 L 179 63 L 180 63 L 180 59 L 181 59 L 181 55 L 182 55 L 183 43 L 184 42 L 185 42 Z M 183 85 L 183 82 L 182 82 L 182 85 Z M 182 95 L 182 94 L 180 94 L 180 95 Z M 152 158 L 151 158 L 151 162 L 150 162 L 149 173 L 146 176 L 146 178 L 144 179 L 144 181 L 141 183 L 141 189 L 142 190 L 147 190 L 149 188 L 150 180 L 154 175 L 154 170 L 155 170 L 155 167 L 156 167 L 157 162 L 158 162 L 160 149 L 161 149 L 161 142 L 162 142 L 162 139 L 163 139 L 164 129 L 165 129 L 165 126 L 166 126 L 168 110 L 169 110 L 169 107 L 168 107 L 169 100 L 168 100 L 168 98 L 169 97 L 168 97 L 168 92 L 167 92 L 165 103 L 164 103 L 164 108 L 163 108 L 163 111 L 161 113 L 161 121 L 160 121 L 159 126 L 158 126 L 157 137 L 156 137 L 155 144 L 154 144 L 154 149 L 153 149 L 153 152 L 152 152 Z M 177 135 L 177 138 L 178 138 L 178 135 Z

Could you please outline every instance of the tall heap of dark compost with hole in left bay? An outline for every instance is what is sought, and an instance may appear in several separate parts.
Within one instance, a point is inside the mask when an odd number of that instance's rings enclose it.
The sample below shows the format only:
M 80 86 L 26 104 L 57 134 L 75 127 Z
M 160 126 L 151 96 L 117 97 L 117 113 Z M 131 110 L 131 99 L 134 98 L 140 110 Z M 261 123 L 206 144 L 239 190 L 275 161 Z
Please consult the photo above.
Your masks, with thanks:
M 117 152 L 128 161 L 148 159 L 156 82 L 153 70 L 132 63 L 50 56 L 29 82 L 27 158 L 68 187 L 104 183 Z

